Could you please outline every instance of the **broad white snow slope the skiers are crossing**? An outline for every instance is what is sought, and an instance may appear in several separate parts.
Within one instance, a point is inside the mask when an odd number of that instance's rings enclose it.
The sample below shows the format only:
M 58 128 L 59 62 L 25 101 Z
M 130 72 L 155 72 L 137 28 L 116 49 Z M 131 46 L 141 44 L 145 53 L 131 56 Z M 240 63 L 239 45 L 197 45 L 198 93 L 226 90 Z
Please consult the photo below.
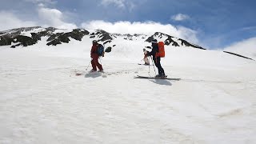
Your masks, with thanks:
M 256 143 L 255 61 L 166 46 L 182 80 L 138 79 L 149 43 L 114 41 L 104 74 L 86 70 L 89 40 L 0 47 L 0 143 Z

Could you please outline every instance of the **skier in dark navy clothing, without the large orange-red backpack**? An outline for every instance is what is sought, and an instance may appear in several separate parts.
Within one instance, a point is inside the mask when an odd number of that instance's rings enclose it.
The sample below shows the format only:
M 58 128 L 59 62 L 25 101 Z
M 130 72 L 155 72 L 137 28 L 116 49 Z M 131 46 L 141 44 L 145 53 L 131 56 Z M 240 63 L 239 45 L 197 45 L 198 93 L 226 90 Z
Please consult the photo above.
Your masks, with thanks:
M 158 67 L 158 75 L 156 75 L 156 78 L 166 78 L 165 71 L 162 69 L 160 60 L 161 58 L 158 57 L 156 54 L 158 53 L 158 40 L 153 39 L 152 40 L 152 50 L 146 54 L 146 56 L 153 56 L 154 65 Z

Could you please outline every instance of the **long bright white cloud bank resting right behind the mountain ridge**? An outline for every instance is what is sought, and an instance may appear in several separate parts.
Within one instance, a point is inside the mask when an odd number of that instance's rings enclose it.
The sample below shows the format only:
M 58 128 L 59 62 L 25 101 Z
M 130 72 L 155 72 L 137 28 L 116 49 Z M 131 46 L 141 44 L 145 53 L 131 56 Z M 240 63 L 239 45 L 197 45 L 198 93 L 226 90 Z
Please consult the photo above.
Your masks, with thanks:
M 82 23 L 82 27 L 89 30 L 102 29 L 110 33 L 119 34 L 154 34 L 162 32 L 177 38 L 186 39 L 189 42 L 198 44 L 197 32 L 182 26 L 163 25 L 158 22 L 104 22 L 90 21 Z

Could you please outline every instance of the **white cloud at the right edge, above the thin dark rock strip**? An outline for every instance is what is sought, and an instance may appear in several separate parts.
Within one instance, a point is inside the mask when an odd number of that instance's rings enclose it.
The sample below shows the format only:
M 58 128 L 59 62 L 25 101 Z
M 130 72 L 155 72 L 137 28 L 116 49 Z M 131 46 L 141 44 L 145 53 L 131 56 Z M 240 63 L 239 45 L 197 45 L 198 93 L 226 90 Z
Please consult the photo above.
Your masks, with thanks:
M 256 37 L 246 39 L 242 42 L 236 42 L 231 46 L 224 48 L 223 50 L 242 54 L 249 58 L 256 59 Z

